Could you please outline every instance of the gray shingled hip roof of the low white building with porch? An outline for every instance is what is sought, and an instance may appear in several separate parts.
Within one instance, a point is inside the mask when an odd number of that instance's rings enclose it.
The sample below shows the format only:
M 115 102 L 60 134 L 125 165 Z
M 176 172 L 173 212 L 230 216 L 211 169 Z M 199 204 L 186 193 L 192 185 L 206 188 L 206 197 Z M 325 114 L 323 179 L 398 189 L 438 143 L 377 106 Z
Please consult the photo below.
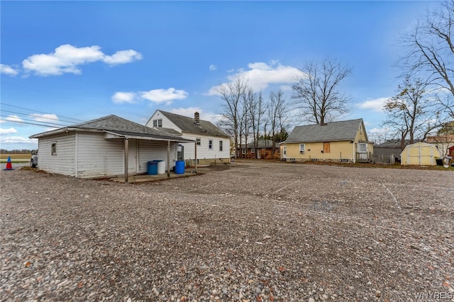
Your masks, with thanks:
M 179 136 L 173 135 L 163 129 L 150 128 L 145 125 L 140 125 L 139 123 L 134 123 L 133 121 L 128 121 L 125 118 L 120 118 L 119 116 L 115 116 L 113 114 L 111 114 L 110 116 L 104 116 L 102 118 L 96 118 L 95 120 L 92 121 L 70 125 L 57 130 L 51 130 L 45 133 L 38 133 L 32 135 L 31 138 L 52 135 L 53 133 L 59 133 L 62 130 L 84 130 L 84 129 L 109 131 L 112 133 L 117 133 L 119 135 L 143 136 L 145 138 L 158 138 L 162 140 L 185 140 L 184 138 L 180 138 Z

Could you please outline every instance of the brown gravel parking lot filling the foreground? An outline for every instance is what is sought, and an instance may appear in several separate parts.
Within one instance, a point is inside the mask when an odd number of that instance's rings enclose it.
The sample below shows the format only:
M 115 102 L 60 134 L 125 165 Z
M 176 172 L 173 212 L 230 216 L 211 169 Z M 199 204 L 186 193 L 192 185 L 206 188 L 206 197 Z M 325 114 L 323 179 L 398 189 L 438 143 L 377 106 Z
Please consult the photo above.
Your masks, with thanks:
M 118 184 L 1 171 L 1 301 L 453 300 L 453 172 L 200 172 Z

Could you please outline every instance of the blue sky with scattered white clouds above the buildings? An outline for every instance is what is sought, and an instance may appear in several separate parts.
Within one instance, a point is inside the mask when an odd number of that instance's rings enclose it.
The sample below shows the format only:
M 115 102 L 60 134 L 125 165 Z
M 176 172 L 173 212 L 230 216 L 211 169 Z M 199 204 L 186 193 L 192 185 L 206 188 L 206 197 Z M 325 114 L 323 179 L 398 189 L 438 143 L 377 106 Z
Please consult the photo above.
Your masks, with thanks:
M 156 109 L 199 111 L 215 122 L 215 88 L 238 74 L 265 96 L 283 89 L 290 104 L 298 68 L 326 57 L 353 68 L 342 119 L 363 118 L 372 136 L 397 88 L 399 36 L 433 4 L 1 1 L 1 148 L 35 149 L 28 136 L 48 123 L 109 114 L 144 124 Z

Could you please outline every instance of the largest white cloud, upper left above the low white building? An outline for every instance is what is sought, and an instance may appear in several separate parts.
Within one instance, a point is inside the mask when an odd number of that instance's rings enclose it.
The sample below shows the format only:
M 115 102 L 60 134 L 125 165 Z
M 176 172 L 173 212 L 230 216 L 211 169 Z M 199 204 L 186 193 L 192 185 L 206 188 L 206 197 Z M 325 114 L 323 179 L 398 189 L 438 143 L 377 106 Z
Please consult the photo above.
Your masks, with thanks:
M 89 47 L 74 47 L 69 44 L 55 48 L 55 51 L 45 55 L 31 55 L 23 60 L 22 66 L 28 72 L 42 76 L 61 75 L 65 73 L 81 74 L 79 65 L 101 61 L 109 65 L 123 64 L 140 60 L 142 55 L 135 50 L 120 50 L 114 55 L 105 55 L 97 45 Z

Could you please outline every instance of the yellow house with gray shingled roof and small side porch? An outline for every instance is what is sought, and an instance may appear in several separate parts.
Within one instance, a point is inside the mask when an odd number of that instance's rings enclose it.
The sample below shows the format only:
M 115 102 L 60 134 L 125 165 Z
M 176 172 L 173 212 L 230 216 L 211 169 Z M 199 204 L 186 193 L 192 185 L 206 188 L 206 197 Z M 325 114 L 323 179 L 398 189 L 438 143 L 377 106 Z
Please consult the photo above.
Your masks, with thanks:
M 281 158 L 291 162 L 372 162 L 374 154 L 362 118 L 297 126 L 280 148 Z

